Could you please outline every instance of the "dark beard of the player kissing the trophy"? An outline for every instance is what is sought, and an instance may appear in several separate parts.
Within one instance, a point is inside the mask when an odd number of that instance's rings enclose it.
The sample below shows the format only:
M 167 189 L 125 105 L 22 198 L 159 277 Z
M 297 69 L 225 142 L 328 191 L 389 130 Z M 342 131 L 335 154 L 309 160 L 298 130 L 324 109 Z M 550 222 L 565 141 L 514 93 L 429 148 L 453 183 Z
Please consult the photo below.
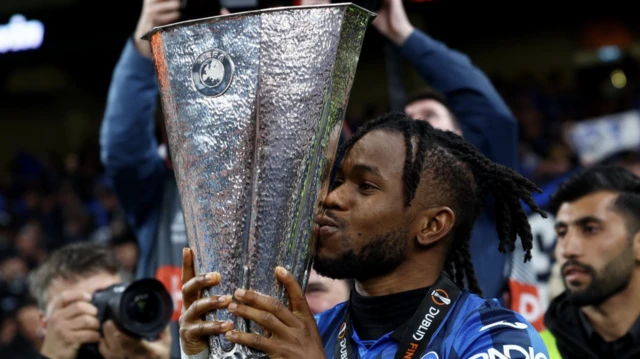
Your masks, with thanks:
M 408 227 L 400 226 L 372 237 L 359 253 L 352 248 L 337 258 L 316 255 L 313 267 L 318 274 L 332 279 L 355 279 L 359 282 L 392 272 L 407 258 Z M 346 245 L 350 243 L 345 239 Z

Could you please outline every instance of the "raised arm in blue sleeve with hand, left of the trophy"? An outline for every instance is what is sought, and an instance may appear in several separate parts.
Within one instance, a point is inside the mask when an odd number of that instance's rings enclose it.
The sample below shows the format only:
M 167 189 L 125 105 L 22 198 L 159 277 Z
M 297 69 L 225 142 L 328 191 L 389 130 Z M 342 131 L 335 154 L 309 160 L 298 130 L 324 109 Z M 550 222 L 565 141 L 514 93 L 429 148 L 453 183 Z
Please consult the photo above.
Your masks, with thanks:
M 159 207 L 167 168 L 158 153 L 154 116 L 158 97 L 149 44 L 140 37 L 179 18 L 179 0 L 146 0 L 122 51 L 109 88 L 100 131 L 101 158 L 134 226 Z

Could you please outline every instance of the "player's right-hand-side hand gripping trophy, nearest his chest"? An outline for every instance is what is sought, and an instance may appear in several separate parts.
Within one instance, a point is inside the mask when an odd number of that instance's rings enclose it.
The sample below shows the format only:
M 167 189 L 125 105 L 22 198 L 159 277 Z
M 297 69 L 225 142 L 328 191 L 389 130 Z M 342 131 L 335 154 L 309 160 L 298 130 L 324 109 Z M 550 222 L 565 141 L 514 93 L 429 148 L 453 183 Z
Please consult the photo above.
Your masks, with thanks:
M 287 289 L 291 309 L 276 298 L 252 290 L 237 290 L 235 297 L 242 304 L 229 305 L 229 311 L 261 325 L 270 335 L 231 331 L 227 339 L 265 352 L 270 358 L 325 358 L 320 333 L 302 288 L 284 268 L 276 268 L 276 278 Z

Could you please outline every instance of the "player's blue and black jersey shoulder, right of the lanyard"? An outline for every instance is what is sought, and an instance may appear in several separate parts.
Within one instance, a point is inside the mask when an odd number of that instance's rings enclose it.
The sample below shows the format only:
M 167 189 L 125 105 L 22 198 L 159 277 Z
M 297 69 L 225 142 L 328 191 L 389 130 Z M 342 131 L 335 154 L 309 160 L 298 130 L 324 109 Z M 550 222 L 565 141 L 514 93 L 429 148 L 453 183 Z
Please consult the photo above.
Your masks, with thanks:
M 549 359 L 540 334 L 522 315 L 473 294 L 461 304 L 466 310 L 457 317 L 453 341 L 460 357 Z

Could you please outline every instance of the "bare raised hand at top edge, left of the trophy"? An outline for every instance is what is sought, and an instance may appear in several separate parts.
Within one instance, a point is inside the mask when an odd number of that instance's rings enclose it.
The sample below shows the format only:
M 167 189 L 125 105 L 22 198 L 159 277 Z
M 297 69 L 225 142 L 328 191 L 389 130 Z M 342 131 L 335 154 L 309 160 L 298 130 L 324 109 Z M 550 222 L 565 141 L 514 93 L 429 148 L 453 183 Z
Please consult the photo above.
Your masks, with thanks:
M 151 46 L 141 37 L 156 26 L 170 24 L 180 19 L 180 0 L 144 0 L 133 40 L 142 56 L 151 59 Z

